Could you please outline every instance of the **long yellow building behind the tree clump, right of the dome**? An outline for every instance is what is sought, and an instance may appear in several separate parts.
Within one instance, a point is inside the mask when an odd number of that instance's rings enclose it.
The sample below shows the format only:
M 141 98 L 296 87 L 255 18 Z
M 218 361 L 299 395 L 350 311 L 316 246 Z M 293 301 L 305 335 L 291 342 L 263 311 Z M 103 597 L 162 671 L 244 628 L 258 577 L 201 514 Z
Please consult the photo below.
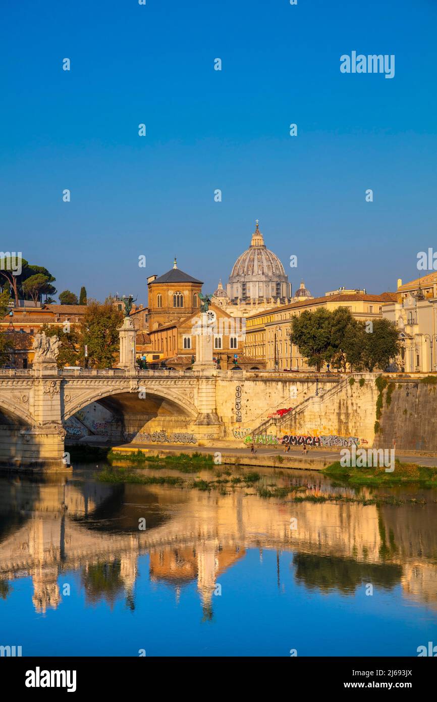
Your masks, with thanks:
M 272 307 L 246 319 L 244 352 L 255 362 L 264 361 L 267 370 L 300 371 L 309 368 L 297 346 L 290 342 L 291 320 L 302 312 L 314 312 L 319 307 L 336 310 L 346 307 L 355 319 L 368 321 L 380 319 L 386 303 L 397 300 L 397 293 L 368 295 L 367 293 L 329 294 L 320 298 L 306 298 L 290 305 Z

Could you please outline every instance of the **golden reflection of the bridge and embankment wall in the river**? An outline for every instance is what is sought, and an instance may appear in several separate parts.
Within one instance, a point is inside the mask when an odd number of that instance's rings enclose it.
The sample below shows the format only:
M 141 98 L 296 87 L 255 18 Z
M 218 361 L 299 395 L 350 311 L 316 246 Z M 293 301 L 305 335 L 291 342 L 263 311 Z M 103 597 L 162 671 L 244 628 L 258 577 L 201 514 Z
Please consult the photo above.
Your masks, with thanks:
M 323 486 L 323 478 L 316 479 Z M 245 497 L 241 490 L 210 496 L 93 482 L 8 484 L 0 497 L 0 512 L 9 512 L 11 506 L 22 512 L 27 505 L 29 515 L 4 538 L 0 534 L 0 581 L 31 576 L 39 611 L 58 606 L 61 574 L 84 573 L 101 563 L 117 564 L 123 589 L 132 593 L 137 557 L 144 552 L 149 553 L 154 581 L 175 590 L 197 581 L 208 609 L 220 574 L 248 548 L 297 552 L 298 576 L 311 585 L 328 557 L 328 588 L 342 588 L 345 578 L 350 590 L 351 583 L 360 585 L 370 571 L 370 582 L 383 587 L 400 582 L 407 597 L 432 606 L 437 601 L 437 537 L 431 518 L 437 505 L 431 503 L 426 513 L 417 505 L 279 504 Z M 146 531 L 138 530 L 139 517 L 146 519 Z M 297 519 L 293 531 L 291 517 Z

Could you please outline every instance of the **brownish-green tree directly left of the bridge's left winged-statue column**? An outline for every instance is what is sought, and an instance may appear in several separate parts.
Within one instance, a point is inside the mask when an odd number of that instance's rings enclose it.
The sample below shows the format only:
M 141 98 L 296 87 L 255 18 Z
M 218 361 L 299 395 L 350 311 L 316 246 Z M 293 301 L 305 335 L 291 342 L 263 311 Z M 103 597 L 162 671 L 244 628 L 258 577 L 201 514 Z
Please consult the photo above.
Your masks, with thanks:
M 88 347 L 88 365 L 94 368 L 112 368 L 119 352 L 119 328 L 123 313 L 114 305 L 92 300 L 88 303 L 80 327 L 81 360 L 85 362 Z

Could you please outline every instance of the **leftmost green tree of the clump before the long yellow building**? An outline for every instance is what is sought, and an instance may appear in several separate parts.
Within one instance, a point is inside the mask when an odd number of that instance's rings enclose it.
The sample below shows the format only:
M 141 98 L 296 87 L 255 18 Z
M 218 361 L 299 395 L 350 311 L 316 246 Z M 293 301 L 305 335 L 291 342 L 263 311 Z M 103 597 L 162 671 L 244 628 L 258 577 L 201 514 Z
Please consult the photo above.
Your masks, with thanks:
M 332 312 L 319 307 L 314 312 L 302 312 L 293 317 L 293 343 L 309 366 L 320 371 L 323 363 L 332 361 L 337 348 L 332 344 Z

